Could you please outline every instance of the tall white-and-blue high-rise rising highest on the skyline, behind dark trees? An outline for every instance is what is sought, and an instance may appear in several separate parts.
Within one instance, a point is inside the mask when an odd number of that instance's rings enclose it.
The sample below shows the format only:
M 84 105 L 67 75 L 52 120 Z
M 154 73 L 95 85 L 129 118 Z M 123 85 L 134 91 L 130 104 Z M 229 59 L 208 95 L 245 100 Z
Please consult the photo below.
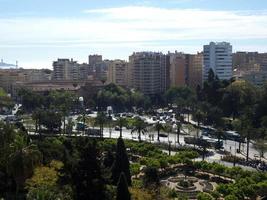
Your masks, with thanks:
M 207 80 L 209 70 L 221 80 L 229 80 L 233 76 L 232 70 L 232 46 L 227 42 L 204 45 L 204 70 L 203 78 Z

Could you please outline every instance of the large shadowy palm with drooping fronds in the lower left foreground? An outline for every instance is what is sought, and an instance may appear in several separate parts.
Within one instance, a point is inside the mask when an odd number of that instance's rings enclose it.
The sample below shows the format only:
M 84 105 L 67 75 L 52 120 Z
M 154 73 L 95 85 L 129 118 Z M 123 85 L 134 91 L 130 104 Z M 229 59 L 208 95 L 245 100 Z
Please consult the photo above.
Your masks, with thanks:
M 42 155 L 38 147 L 29 143 L 27 137 L 17 134 L 10 144 L 12 153 L 8 159 L 8 172 L 16 182 L 16 193 L 23 188 L 27 178 L 32 176 L 34 168 L 40 164 Z

